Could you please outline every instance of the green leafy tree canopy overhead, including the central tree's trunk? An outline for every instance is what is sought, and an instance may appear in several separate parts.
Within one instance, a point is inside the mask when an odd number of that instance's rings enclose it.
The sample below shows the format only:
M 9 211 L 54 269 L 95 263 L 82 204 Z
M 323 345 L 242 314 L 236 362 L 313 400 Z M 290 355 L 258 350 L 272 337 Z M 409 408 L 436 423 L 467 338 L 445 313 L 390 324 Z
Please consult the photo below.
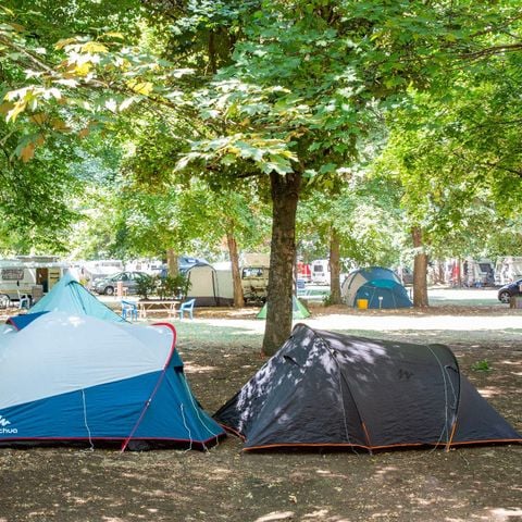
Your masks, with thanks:
M 60 245 L 83 150 L 108 136 L 115 248 L 210 245 L 226 223 L 253 245 L 266 202 L 271 353 L 291 326 L 301 199 L 315 233 L 340 233 L 359 260 L 397 259 L 412 231 L 417 251 L 442 254 L 471 252 L 492 223 L 517 226 L 518 3 L 3 2 L 0 211 L 23 208 L 10 241 Z M 198 229 L 206 220 L 216 225 Z

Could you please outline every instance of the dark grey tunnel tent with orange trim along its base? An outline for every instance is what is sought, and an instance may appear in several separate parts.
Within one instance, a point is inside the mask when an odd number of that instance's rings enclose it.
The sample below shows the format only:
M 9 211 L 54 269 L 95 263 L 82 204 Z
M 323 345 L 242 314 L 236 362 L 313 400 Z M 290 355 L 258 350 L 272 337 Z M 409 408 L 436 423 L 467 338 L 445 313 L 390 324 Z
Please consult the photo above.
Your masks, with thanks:
M 214 419 L 239 434 L 247 450 L 522 442 L 460 373 L 446 346 L 303 324 Z

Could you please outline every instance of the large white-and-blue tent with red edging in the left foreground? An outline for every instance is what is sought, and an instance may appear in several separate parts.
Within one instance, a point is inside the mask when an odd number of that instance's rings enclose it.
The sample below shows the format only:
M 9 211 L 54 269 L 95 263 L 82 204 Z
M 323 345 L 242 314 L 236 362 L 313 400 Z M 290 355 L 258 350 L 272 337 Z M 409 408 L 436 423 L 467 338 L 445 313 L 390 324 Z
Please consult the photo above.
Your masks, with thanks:
M 208 447 L 224 435 L 183 372 L 171 324 L 49 312 L 0 337 L 0 445 Z

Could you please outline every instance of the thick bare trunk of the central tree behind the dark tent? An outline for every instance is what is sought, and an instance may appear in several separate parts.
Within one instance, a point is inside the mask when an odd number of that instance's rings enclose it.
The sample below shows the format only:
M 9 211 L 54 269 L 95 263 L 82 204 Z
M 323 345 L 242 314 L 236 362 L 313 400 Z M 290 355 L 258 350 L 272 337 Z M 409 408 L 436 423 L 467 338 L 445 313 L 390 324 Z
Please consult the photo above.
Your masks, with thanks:
M 293 266 L 296 257 L 296 211 L 301 174 L 270 175 L 272 241 L 268 310 L 262 352 L 274 355 L 291 332 Z

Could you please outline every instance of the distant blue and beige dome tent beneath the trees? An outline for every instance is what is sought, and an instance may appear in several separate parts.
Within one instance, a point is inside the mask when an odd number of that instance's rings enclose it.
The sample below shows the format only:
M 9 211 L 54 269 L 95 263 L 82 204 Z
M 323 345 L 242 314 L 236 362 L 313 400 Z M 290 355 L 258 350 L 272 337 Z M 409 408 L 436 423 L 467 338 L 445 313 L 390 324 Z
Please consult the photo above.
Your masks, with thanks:
M 357 307 L 358 299 L 368 300 L 368 308 L 409 308 L 406 288 L 389 269 L 369 266 L 350 272 L 341 286 L 343 300 Z

